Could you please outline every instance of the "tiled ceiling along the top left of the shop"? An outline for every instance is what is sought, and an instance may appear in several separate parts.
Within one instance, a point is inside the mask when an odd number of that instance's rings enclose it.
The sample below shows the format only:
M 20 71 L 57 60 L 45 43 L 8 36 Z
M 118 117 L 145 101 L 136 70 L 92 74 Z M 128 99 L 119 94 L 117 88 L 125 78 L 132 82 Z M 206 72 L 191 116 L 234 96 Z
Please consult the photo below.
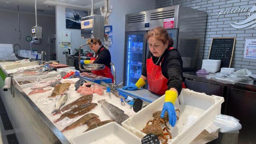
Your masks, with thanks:
M 78 8 L 90 9 L 91 0 L 37 0 L 37 10 L 40 14 L 55 15 L 55 4 L 64 4 Z M 0 9 L 17 10 L 20 12 L 35 12 L 35 0 L 0 0 Z M 94 0 L 94 8 L 104 6 L 104 0 Z

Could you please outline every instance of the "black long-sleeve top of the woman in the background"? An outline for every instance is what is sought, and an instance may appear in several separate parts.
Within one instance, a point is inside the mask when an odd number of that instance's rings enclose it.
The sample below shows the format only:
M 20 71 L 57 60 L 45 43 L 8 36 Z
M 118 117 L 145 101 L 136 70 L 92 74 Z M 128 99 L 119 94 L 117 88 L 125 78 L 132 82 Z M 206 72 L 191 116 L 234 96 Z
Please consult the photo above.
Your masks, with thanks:
M 102 50 L 102 48 L 104 48 L 104 49 Z M 94 60 L 94 62 L 93 62 L 94 64 L 104 64 L 111 69 L 111 67 L 110 67 L 111 56 L 110 56 L 110 52 L 108 49 L 106 49 L 102 45 L 102 46 L 100 46 L 100 48 L 98 49 L 98 51 L 95 54 L 96 54 L 95 55 L 96 60 Z

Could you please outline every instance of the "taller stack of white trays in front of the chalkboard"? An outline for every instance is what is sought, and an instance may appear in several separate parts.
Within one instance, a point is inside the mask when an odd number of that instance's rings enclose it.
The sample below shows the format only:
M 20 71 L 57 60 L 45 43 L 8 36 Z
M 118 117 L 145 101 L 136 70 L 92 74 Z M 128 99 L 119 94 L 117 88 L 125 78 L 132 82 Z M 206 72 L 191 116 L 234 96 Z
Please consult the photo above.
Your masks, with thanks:
M 221 60 L 203 60 L 202 69 L 204 68 L 210 73 L 215 73 L 220 70 L 220 63 Z

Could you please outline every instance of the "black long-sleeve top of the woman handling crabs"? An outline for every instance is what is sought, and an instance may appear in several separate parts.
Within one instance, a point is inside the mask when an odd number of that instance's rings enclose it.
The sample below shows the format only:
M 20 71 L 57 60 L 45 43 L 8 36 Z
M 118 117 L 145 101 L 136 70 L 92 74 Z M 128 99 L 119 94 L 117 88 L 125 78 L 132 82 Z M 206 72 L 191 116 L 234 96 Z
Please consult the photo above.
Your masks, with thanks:
M 154 57 L 153 54 L 149 53 L 148 58 L 152 57 L 154 64 L 158 62 L 158 66 L 160 62 L 164 58 L 161 64 L 162 74 L 164 77 L 168 79 L 167 86 L 168 90 L 170 88 L 175 88 L 180 94 L 182 90 L 182 58 L 177 49 L 165 50 L 164 54 L 159 58 Z M 146 65 L 142 69 L 142 75 L 147 77 L 147 68 Z

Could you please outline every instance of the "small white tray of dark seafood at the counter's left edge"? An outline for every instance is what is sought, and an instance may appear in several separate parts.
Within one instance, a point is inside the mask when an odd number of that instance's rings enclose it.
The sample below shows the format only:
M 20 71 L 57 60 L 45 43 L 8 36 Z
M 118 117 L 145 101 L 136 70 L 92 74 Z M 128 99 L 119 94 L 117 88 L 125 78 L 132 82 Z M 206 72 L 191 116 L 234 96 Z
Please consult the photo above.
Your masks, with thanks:
M 21 81 L 25 81 L 25 80 L 35 80 L 36 82 L 34 83 L 31 83 L 31 84 L 22 84 L 20 85 L 18 82 L 21 82 Z M 38 83 L 38 82 L 41 82 L 42 79 L 40 79 L 38 76 L 24 76 L 24 77 L 17 77 L 17 78 L 12 78 L 12 84 L 14 86 L 16 86 L 16 88 L 22 92 L 22 89 L 23 88 L 28 88 L 28 87 L 31 87 L 32 85 Z

